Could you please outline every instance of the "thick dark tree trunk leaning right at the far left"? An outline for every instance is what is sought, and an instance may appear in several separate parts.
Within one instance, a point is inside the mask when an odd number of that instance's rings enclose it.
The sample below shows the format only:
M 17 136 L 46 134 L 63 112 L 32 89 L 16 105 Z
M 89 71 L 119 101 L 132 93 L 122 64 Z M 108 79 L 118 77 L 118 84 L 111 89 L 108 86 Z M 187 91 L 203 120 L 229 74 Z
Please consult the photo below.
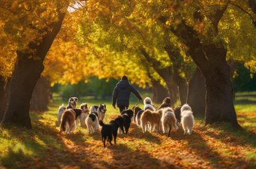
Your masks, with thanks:
M 61 13 L 59 20 L 51 23 L 49 26 L 51 31 L 46 30 L 42 36 L 42 41 L 31 41 L 29 43 L 26 51 L 32 49 L 35 52 L 17 51 L 17 63 L 10 81 L 8 106 L 2 124 L 15 123 L 19 126 L 32 128 L 29 116 L 30 99 L 35 84 L 44 70 L 44 58 L 60 31 L 64 15 L 64 13 Z

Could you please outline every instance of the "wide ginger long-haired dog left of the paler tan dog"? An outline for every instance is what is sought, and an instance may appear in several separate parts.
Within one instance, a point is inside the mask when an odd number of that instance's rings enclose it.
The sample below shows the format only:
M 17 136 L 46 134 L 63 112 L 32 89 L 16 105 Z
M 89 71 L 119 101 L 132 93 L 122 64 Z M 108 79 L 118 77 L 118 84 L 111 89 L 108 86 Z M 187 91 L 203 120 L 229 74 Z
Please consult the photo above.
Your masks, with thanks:
M 153 131 L 161 131 L 162 109 L 157 111 L 145 110 L 140 117 L 140 126 L 143 133 L 149 129 Z M 149 124 L 149 125 L 148 125 Z

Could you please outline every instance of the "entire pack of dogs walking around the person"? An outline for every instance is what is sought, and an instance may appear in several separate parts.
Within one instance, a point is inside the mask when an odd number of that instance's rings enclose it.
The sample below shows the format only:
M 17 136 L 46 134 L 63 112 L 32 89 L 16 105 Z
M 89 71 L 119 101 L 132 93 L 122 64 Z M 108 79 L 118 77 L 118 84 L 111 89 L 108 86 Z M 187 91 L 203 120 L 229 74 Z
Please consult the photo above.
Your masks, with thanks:
M 89 134 L 100 130 L 103 146 L 106 141 L 116 144 L 118 134 L 128 134 L 131 122 L 143 130 L 143 133 L 163 132 L 170 137 L 171 132 L 177 132 L 182 126 L 184 135 L 191 135 L 194 126 L 192 108 L 188 104 L 172 108 L 170 97 L 166 97 L 158 108 L 154 107 L 152 99 L 146 97 L 143 101 L 144 107 L 134 106 L 132 109 L 123 110 L 121 115 L 109 123 L 104 123 L 107 112 L 106 104 L 88 108 L 87 103 L 82 103 L 77 108 L 77 97 L 68 99 L 68 106 L 59 107 L 57 123 L 60 125 L 60 132 L 71 134 L 80 123 L 82 128 L 87 128 Z

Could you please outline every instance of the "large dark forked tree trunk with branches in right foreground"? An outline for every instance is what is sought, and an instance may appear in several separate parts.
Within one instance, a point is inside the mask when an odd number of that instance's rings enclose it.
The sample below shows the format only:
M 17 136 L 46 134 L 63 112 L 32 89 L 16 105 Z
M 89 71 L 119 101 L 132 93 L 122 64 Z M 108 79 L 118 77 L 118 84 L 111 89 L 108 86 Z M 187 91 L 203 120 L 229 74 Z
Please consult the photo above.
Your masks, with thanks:
M 212 33 L 216 36 L 218 35 L 219 20 L 227 6 L 228 3 L 225 6 L 219 6 L 210 14 Z M 165 18 L 162 17 L 161 21 L 163 19 Z M 233 88 L 230 81 L 230 68 L 226 61 L 226 48 L 221 39 L 202 43 L 199 32 L 188 26 L 185 21 L 181 21 L 176 28 L 172 27 L 171 31 L 188 46 L 188 53 L 205 78 L 205 125 L 216 121 L 227 121 L 233 126 L 239 127 L 232 100 Z

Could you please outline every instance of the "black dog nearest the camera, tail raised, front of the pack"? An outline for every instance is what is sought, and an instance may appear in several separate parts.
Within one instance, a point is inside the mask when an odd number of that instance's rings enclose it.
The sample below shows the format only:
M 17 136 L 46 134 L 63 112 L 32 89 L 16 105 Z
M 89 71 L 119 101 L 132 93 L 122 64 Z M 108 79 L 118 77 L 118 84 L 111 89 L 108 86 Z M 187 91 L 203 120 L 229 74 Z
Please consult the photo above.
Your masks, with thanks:
M 104 148 L 106 147 L 106 140 L 109 141 L 111 146 L 113 145 L 111 143 L 112 139 L 116 144 L 116 137 L 118 135 L 118 128 L 119 128 L 118 121 L 111 120 L 108 124 L 104 124 L 103 121 L 100 121 L 100 126 L 102 126 L 101 139 L 102 139 Z

